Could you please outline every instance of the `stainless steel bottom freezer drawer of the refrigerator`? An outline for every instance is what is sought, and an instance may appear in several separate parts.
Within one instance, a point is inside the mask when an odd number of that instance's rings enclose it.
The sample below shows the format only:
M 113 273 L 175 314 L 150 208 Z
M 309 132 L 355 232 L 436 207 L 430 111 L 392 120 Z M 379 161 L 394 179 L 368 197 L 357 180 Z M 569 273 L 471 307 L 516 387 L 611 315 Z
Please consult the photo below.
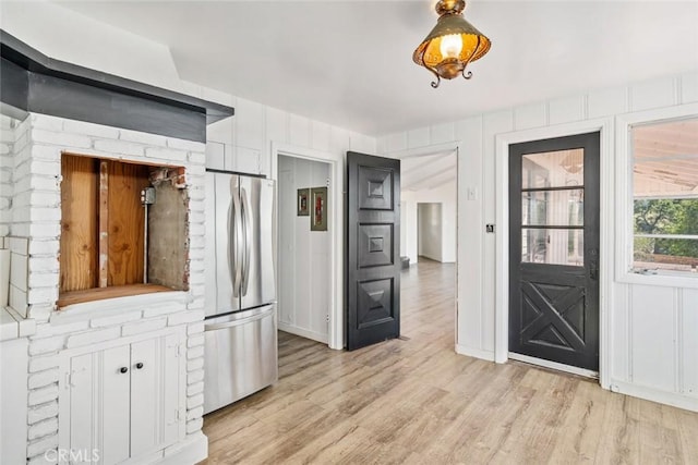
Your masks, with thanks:
M 245 397 L 278 378 L 275 306 L 205 322 L 204 413 Z

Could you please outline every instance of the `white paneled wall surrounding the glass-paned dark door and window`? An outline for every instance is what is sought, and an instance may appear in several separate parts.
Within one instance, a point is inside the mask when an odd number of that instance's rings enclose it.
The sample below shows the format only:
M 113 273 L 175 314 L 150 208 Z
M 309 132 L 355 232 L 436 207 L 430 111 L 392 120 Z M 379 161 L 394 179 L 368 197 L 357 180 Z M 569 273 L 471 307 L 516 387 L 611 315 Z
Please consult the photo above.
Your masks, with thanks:
M 467 85 L 467 83 L 462 83 Z M 582 95 L 551 99 L 465 120 L 390 134 L 378 139 L 378 152 L 390 156 L 408 149 L 447 143 L 459 145 L 458 164 L 458 328 L 456 348 L 494 359 L 497 255 L 496 234 L 486 223 L 497 218 L 496 137 L 531 129 L 591 120 L 652 108 L 698 101 L 698 71 L 650 82 L 592 89 Z M 618 170 L 613 152 L 615 134 L 609 134 L 611 168 L 602 173 L 602 215 L 613 218 Z M 467 196 L 473 192 L 476 195 Z M 501 231 L 500 225 L 500 231 Z M 612 231 L 612 224 L 609 225 Z M 609 230 L 605 232 L 610 234 Z M 602 250 L 602 261 L 615 261 L 615 246 Z M 610 267 L 613 269 L 614 267 Z M 604 387 L 660 402 L 698 409 L 698 297 L 697 291 L 672 285 L 636 285 L 601 277 L 607 289 L 602 302 L 611 321 L 602 328 L 610 346 Z

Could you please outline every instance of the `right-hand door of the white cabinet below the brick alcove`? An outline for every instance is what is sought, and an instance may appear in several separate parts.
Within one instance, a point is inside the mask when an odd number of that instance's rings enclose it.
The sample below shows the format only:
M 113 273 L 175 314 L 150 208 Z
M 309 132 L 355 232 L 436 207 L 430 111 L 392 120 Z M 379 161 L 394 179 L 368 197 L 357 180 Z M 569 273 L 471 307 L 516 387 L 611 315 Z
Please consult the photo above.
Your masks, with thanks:
M 166 448 L 178 438 L 177 334 L 131 344 L 131 456 Z

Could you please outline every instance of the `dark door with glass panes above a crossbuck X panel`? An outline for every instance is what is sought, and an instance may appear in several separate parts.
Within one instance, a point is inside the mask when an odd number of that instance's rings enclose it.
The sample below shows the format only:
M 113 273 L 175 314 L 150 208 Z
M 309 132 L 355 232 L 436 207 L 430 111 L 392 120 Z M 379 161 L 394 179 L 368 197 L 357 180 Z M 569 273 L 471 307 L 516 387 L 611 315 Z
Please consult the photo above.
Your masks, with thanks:
M 599 133 L 509 147 L 509 352 L 599 369 Z

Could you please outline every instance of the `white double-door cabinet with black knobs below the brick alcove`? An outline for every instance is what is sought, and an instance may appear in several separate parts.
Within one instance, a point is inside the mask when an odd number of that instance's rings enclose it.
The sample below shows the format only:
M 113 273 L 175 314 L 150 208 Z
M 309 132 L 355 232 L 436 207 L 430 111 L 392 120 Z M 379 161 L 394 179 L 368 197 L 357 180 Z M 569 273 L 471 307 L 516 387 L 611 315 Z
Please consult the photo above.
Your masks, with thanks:
M 60 448 L 92 463 L 116 464 L 148 457 L 183 438 L 182 341 L 181 332 L 169 331 L 65 354 Z

